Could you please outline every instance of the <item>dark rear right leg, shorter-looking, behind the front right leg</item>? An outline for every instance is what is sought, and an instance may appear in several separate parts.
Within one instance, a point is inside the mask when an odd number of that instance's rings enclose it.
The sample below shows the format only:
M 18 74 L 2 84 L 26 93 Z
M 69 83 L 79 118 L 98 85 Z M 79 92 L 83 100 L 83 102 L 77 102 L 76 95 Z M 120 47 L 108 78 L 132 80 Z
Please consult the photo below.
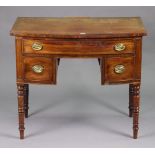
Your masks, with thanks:
M 133 116 L 133 84 L 129 84 L 129 117 Z

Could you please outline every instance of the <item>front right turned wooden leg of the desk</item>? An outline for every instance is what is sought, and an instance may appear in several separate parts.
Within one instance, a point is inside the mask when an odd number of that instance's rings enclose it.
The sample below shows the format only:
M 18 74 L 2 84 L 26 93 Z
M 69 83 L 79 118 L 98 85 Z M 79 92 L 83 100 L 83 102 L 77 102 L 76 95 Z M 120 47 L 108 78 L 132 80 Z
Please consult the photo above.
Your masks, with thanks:
M 133 88 L 133 138 L 138 137 L 140 83 L 131 84 Z

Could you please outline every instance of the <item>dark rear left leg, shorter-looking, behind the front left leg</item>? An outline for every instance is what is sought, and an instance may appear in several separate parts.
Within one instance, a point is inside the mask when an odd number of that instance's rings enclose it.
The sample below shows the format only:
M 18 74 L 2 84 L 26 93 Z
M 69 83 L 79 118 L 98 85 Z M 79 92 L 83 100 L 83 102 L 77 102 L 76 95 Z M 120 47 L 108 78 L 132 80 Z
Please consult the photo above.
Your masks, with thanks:
M 24 110 L 25 110 L 25 118 L 28 118 L 28 110 L 29 110 L 29 85 L 24 84 Z

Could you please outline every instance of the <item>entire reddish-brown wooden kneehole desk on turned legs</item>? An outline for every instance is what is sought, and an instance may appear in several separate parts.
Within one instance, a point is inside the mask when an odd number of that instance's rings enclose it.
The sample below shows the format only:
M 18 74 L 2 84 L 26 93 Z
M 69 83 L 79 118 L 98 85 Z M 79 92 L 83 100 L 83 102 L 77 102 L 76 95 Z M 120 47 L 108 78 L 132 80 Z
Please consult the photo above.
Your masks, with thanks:
M 28 117 L 29 84 L 57 83 L 61 58 L 96 58 L 101 85 L 129 84 L 129 116 L 138 135 L 142 37 L 140 17 L 18 17 L 11 32 L 16 40 L 20 139 Z

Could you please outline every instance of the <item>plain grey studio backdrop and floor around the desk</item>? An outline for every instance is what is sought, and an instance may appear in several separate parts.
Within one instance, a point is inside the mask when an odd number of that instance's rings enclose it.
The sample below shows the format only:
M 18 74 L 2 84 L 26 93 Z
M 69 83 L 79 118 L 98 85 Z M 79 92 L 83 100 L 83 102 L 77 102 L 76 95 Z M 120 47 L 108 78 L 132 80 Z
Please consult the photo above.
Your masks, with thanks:
M 132 139 L 128 85 L 101 86 L 96 59 L 62 59 L 58 84 L 30 86 L 30 117 L 19 140 L 15 41 L 18 16 L 140 16 L 143 39 L 139 138 Z M 0 147 L 154 147 L 155 7 L 0 7 Z

